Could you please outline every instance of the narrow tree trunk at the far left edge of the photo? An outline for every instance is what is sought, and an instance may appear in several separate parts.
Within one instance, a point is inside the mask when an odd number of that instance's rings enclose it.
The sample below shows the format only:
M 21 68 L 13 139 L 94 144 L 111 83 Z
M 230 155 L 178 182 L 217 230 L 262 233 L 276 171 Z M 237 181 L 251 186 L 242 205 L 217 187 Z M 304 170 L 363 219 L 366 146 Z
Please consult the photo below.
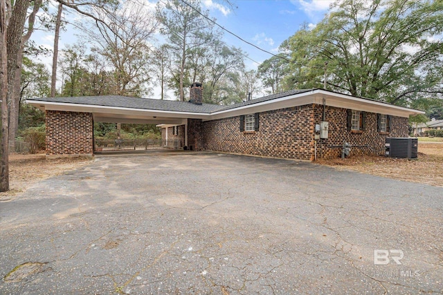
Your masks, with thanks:
M 8 144 L 8 55 L 6 54 L 6 1 L 0 0 L 0 99 L 1 99 L 1 144 L 0 144 L 0 191 L 9 190 L 9 144 Z

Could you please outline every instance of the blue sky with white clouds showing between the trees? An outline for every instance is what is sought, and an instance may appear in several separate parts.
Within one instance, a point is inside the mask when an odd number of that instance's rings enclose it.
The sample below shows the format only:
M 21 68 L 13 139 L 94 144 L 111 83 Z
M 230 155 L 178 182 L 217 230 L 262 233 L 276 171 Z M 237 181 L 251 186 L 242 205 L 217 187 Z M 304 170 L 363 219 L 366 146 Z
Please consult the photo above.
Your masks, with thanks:
M 153 9 L 158 0 L 146 1 Z M 204 8 L 210 11 L 210 16 L 217 19 L 217 23 L 226 29 L 239 35 L 260 48 L 274 54 L 278 53 L 278 46 L 291 37 L 302 23 L 314 25 L 323 19 L 329 5 L 333 0 L 233 0 L 237 8 L 230 10 L 224 5 L 223 0 L 201 0 Z M 51 1 L 51 11 L 55 13 L 56 3 Z M 73 21 L 74 14 L 65 13 L 64 18 Z M 59 48 L 63 50 L 66 44 L 75 44 L 78 30 L 73 26 L 67 26 L 61 32 Z M 36 30 L 32 39 L 38 45 L 50 50 L 53 49 L 53 32 Z M 251 59 L 262 62 L 271 57 L 267 53 L 245 44 L 233 35 L 224 32 L 224 41 L 230 46 L 242 48 Z M 40 57 L 51 68 L 52 57 Z M 246 59 L 248 69 L 257 69 L 258 64 Z

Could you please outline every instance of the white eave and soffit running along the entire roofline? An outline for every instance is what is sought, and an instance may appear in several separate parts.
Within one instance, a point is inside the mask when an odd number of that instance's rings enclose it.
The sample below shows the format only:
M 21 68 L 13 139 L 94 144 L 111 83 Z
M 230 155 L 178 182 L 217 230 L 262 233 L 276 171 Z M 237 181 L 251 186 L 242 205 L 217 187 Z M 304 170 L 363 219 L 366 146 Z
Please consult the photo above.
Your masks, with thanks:
M 410 115 L 424 114 L 423 111 L 417 111 L 411 108 L 404 108 L 402 106 L 395 106 L 392 104 L 363 99 L 360 97 L 353 97 L 351 95 L 334 93 L 331 91 L 324 91 L 321 89 L 269 99 L 264 102 L 247 104 L 244 106 L 238 106 L 236 108 L 229 108 L 224 111 L 215 111 L 213 113 L 161 111 L 143 108 L 100 106 L 93 104 L 44 102 L 33 99 L 28 99 L 27 102 L 28 104 L 36 106 L 42 110 L 93 113 L 94 120 L 103 122 L 106 122 L 104 120 L 114 120 L 117 122 L 119 119 L 122 120 L 122 122 L 141 122 L 144 120 L 145 122 L 157 124 L 161 122 L 174 126 L 176 124 L 184 124 L 183 122 L 187 118 L 209 121 L 222 119 L 225 117 L 234 117 L 237 115 L 246 115 L 248 113 L 260 113 L 264 111 L 273 111 L 280 108 L 302 106 L 306 104 L 323 105 L 323 99 L 325 99 L 326 106 L 351 108 L 356 111 L 367 111 L 371 113 L 381 113 L 399 117 L 409 117 Z

